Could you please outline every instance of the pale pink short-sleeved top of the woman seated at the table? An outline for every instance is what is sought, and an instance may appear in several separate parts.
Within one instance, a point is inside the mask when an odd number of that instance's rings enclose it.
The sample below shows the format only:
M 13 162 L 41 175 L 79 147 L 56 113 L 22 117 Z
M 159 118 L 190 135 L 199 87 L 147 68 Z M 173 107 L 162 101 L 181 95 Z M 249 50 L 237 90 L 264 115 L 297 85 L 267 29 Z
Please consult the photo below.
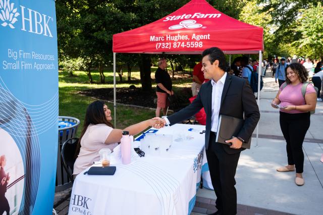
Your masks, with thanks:
M 78 157 L 74 163 L 73 175 L 81 173 L 86 168 L 93 165 L 93 162 L 100 160 L 99 150 L 102 148 L 110 148 L 111 151 L 118 143 L 105 144 L 106 138 L 110 135 L 113 128 L 105 124 L 90 124 L 82 139 L 81 148 Z

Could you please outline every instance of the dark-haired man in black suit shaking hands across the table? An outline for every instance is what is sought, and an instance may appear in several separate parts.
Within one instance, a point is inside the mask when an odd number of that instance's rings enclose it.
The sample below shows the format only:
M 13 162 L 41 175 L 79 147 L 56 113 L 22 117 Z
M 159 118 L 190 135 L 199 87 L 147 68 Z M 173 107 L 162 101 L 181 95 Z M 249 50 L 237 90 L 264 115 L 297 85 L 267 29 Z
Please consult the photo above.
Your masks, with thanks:
M 242 142 L 251 138 L 259 118 L 255 96 L 245 79 L 225 72 L 226 59 L 220 48 L 212 47 L 202 53 L 202 71 L 211 81 L 203 84 L 195 100 L 180 112 L 165 118 L 171 126 L 189 119 L 201 108 L 206 113 L 205 150 L 211 181 L 217 195 L 214 214 L 237 213 L 237 192 L 235 174 Z M 244 124 L 237 137 L 227 140 L 231 146 L 217 143 L 219 115 L 243 119 Z

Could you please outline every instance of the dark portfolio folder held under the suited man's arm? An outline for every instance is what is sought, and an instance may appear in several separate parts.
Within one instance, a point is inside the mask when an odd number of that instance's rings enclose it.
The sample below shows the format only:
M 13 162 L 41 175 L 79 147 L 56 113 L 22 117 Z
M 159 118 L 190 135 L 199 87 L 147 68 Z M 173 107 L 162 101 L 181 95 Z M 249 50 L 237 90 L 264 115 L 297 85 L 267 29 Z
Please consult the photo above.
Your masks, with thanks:
M 230 140 L 232 137 L 237 137 L 243 126 L 243 122 L 243 119 L 220 115 L 216 142 L 231 145 L 231 143 L 226 143 L 225 141 Z M 247 142 L 242 142 L 241 147 L 250 149 L 251 137 L 245 141 Z

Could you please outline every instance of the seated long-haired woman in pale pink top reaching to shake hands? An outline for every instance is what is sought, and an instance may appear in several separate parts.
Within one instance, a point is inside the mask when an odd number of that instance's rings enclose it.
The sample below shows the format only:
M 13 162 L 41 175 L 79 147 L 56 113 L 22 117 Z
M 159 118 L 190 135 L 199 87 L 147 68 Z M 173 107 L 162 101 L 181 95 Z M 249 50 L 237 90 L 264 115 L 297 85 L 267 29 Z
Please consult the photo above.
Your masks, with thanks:
M 113 151 L 120 142 L 123 130 L 115 129 L 111 120 L 111 111 L 103 101 L 94 101 L 89 104 L 81 137 L 76 148 L 76 155 L 78 154 L 78 156 L 74 164 L 74 177 L 93 165 L 94 161 L 100 159 L 98 154 L 100 149 L 110 148 Z M 131 125 L 124 130 L 129 131 L 129 135 L 136 135 L 149 126 L 160 128 L 164 124 L 159 120 L 150 119 Z

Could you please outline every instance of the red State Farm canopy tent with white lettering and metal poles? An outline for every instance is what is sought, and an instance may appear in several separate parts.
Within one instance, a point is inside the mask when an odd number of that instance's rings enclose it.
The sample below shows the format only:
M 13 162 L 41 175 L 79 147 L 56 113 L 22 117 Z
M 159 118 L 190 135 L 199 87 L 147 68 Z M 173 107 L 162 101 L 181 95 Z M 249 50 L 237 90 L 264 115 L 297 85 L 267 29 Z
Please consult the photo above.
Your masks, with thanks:
M 261 62 L 263 29 L 231 18 L 205 0 L 192 0 L 162 19 L 113 35 L 115 120 L 117 52 L 200 54 L 204 49 L 214 46 L 227 54 L 259 53 Z

